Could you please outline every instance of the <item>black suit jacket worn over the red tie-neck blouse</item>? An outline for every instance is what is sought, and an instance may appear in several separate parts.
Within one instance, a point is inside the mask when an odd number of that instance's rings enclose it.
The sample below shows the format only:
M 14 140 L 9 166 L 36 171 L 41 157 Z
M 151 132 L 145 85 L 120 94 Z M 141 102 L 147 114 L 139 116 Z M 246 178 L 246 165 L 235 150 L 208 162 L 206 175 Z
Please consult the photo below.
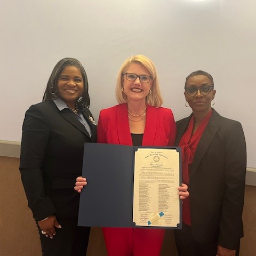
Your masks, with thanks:
M 177 122 L 176 146 L 191 116 Z M 196 241 L 206 242 L 217 237 L 219 245 L 236 249 L 243 236 L 245 172 L 242 125 L 213 109 L 189 173 L 191 229 Z

